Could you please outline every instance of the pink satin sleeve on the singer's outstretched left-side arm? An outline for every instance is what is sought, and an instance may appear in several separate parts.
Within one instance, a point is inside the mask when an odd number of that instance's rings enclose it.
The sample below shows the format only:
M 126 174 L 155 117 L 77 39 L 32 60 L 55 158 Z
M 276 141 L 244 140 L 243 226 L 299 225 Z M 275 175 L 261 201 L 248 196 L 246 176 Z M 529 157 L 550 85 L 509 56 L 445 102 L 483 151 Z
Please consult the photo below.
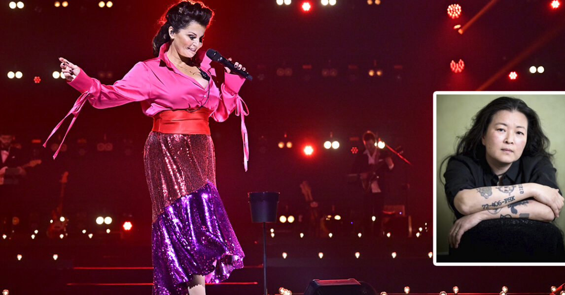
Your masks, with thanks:
M 86 99 L 94 108 L 105 109 L 132 101 L 146 100 L 151 92 L 149 74 L 150 71 L 145 63 L 138 62 L 123 79 L 113 85 L 105 85 L 98 79 L 90 78 L 81 69 L 79 75 L 68 84 L 83 94 L 88 93 Z

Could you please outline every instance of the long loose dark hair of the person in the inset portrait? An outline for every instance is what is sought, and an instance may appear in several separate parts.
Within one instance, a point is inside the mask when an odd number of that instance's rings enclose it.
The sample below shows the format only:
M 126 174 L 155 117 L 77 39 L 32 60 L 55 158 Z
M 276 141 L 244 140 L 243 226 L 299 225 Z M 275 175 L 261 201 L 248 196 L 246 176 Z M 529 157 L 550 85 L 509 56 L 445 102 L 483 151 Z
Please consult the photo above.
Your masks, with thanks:
M 485 159 L 486 149 L 481 138 L 485 135 L 486 129 L 493 119 L 494 114 L 498 111 L 519 111 L 528 119 L 528 137 L 522 155 L 525 156 L 545 156 L 550 160 L 553 154 L 550 154 L 549 138 L 545 136 L 541 129 L 540 117 L 536 111 L 529 108 L 521 99 L 512 97 L 498 97 L 486 105 L 473 117 L 473 126 L 462 137 L 459 137 L 459 143 L 455 155 L 466 155 L 474 160 Z

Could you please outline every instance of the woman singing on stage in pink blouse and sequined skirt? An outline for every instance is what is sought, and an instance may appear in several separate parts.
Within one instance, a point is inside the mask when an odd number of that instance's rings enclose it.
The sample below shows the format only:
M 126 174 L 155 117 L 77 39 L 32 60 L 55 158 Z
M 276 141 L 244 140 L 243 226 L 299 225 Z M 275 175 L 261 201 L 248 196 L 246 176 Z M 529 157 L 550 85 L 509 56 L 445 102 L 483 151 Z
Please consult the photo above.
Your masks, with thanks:
M 237 94 L 244 79 L 228 68 L 220 86 L 211 79 L 211 60 L 200 49 L 213 15 L 199 1 L 170 7 L 153 39 L 155 58 L 138 62 L 112 86 L 60 58 L 69 85 L 82 93 L 68 115 L 76 117 L 86 100 L 95 108 L 140 101 L 153 117 L 144 162 L 153 204 L 155 295 L 205 294 L 205 282 L 227 279 L 243 267 L 244 253 L 216 190 L 208 118 L 222 122 L 234 110 L 241 115 L 247 169 L 247 112 Z

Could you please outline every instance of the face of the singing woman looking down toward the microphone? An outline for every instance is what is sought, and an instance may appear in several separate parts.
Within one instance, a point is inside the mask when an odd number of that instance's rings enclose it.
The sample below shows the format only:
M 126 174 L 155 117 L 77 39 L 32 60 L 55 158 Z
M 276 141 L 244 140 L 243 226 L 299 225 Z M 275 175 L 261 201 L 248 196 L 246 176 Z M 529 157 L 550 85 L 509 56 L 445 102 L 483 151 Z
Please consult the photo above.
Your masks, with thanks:
M 169 35 L 171 35 L 171 47 L 175 49 L 180 56 L 191 58 L 202 47 L 202 38 L 206 27 L 194 21 L 186 28 L 180 29 L 179 32 L 172 33 L 172 26 L 169 27 Z

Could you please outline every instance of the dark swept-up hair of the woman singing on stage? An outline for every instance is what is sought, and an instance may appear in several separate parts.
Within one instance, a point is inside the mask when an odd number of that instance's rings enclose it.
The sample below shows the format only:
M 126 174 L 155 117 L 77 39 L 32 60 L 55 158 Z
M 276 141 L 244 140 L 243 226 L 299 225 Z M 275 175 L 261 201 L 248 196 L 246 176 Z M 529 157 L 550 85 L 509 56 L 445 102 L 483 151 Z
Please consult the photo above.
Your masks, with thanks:
M 169 7 L 159 20 L 160 29 L 153 38 L 153 55 L 159 56 L 161 46 L 171 41 L 169 26 L 173 27 L 173 33 L 186 28 L 193 21 L 208 28 L 212 17 L 214 17 L 214 11 L 200 1 L 182 0 Z

